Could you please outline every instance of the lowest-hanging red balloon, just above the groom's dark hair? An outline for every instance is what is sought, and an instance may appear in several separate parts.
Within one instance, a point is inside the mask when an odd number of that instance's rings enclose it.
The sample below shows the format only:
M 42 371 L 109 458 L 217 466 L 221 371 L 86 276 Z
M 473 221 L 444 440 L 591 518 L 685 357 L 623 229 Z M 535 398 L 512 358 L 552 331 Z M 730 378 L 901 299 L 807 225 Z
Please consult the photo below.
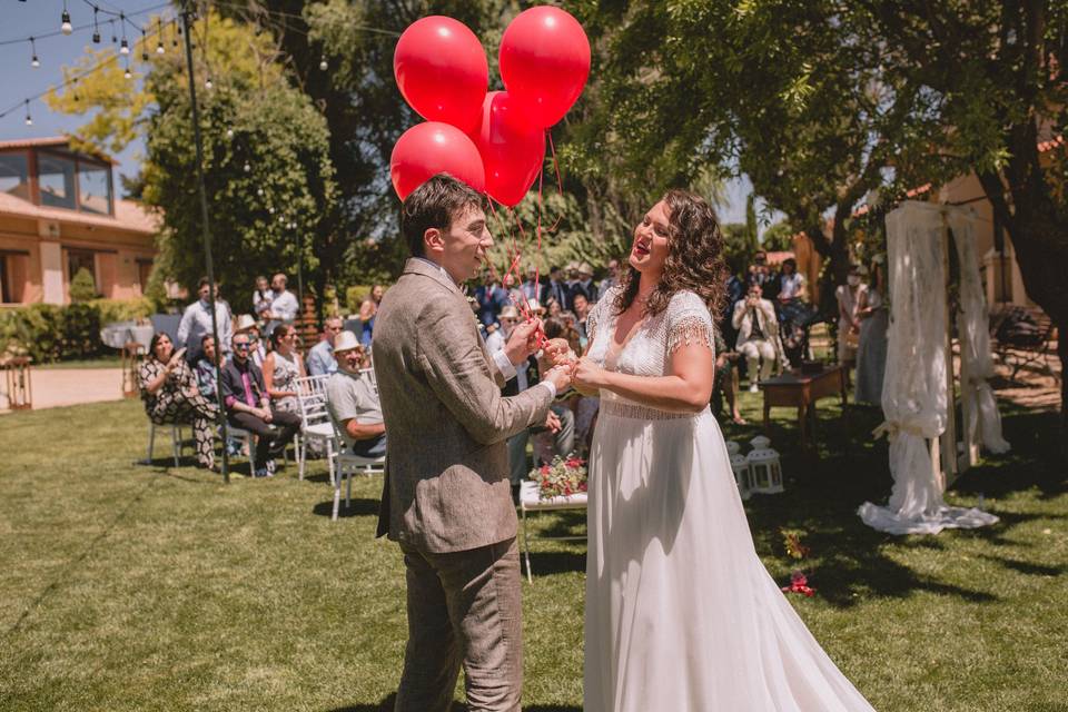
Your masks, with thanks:
M 389 177 L 402 200 L 441 172 L 449 174 L 478 192 L 486 190 L 478 149 L 455 126 L 439 121 L 416 123 L 397 139 L 389 157 Z

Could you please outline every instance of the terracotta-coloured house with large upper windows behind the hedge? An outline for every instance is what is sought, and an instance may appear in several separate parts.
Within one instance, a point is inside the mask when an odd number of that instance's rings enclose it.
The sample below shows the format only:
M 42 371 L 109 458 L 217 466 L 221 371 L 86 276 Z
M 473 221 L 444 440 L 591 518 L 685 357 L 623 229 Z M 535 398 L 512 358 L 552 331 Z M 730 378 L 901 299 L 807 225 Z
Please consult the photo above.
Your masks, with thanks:
M 68 304 L 82 267 L 103 297 L 145 294 L 159 221 L 116 197 L 113 166 L 63 137 L 0 141 L 0 307 Z

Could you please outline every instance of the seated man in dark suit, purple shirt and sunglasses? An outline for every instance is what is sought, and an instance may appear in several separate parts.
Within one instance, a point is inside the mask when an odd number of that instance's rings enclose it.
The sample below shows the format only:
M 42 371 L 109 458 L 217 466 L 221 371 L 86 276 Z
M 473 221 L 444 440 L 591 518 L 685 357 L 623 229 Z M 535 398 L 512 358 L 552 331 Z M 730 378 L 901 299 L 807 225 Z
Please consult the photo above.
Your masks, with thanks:
M 233 346 L 234 357 L 222 367 L 219 384 L 227 421 L 234 427 L 257 435 L 257 468 L 253 474 L 269 477 L 275 474 L 274 458 L 283 454 L 300 429 L 300 416 L 271 406 L 264 387 L 264 374 L 249 357 L 248 334 L 235 334 Z

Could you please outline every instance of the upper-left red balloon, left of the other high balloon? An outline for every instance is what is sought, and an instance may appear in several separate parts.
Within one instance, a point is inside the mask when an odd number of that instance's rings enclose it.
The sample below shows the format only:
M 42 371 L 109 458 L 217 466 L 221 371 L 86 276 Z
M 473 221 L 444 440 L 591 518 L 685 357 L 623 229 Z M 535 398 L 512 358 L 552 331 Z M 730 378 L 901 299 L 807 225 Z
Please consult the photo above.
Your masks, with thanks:
M 472 131 L 490 86 L 486 52 L 463 22 L 432 16 L 408 26 L 393 53 L 405 100 L 428 121 Z

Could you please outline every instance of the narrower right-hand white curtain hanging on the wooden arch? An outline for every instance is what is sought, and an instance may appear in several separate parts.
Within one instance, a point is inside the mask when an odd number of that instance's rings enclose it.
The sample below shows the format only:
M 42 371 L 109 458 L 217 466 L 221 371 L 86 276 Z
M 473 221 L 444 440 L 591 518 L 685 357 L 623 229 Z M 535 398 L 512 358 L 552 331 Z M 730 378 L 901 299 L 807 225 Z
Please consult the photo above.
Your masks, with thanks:
M 976 216 L 970 209 L 957 209 L 949 212 L 948 221 L 960 263 L 962 315 L 958 320 L 958 333 L 960 355 L 968 374 L 968 380 L 961 383 L 961 387 L 971 395 L 970 398 L 965 398 L 965 422 L 977 431 L 969 435 L 977 435 L 978 442 L 987 451 L 1007 453 L 1009 443 L 1001 435 L 1001 414 L 998 413 L 993 389 L 988 383 L 993 376 L 993 358 L 990 355 L 990 317 L 982 293 L 982 278 L 979 275 L 979 256 L 976 253 Z

